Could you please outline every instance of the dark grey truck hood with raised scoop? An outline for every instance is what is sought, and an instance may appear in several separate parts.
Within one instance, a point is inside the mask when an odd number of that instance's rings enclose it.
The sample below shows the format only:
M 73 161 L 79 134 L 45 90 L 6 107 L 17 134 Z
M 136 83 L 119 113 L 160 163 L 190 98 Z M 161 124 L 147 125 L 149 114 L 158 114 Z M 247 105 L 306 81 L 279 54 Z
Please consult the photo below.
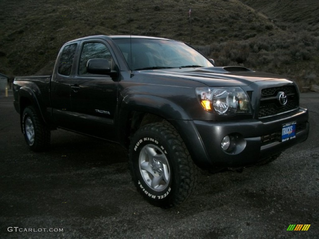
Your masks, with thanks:
M 256 72 L 245 67 L 200 67 L 182 69 L 143 70 L 141 73 L 178 77 L 206 84 L 207 86 L 248 86 L 256 81 L 284 79 L 282 76 Z

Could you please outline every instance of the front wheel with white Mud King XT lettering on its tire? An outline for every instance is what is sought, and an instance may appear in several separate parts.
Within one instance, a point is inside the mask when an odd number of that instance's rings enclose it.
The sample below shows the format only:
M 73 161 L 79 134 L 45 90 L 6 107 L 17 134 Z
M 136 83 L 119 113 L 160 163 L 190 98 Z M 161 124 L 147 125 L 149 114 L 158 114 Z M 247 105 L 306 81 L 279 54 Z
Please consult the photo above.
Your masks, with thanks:
M 137 130 L 129 150 L 132 179 L 151 204 L 171 207 L 185 201 L 197 183 L 197 166 L 169 123 L 152 123 Z

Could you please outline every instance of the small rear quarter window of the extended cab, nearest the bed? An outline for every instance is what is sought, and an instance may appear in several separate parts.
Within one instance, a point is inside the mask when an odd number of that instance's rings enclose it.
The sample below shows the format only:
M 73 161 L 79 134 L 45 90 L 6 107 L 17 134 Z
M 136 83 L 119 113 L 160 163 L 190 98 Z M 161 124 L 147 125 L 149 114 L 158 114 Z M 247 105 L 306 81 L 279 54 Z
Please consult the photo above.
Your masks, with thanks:
M 58 68 L 59 74 L 70 76 L 76 48 L 76 43 L 67 45 L 63 48 Z

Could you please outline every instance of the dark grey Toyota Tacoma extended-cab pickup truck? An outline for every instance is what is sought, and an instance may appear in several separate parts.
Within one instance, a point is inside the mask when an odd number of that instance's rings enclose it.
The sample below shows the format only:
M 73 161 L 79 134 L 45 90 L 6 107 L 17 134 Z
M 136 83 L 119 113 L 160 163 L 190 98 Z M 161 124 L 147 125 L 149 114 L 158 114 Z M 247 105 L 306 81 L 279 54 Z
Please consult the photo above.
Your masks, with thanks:
M 132 179 L 150 203 L 185 201 L 197 167 L 269 163 L 308 137 L 296 84 L 244 67 L 216 67 L 186 43 L 90 36 L 61 48 L 52 76 L 16 77 L 14 106 L 34 151 L 62 128 L 128 149 Z

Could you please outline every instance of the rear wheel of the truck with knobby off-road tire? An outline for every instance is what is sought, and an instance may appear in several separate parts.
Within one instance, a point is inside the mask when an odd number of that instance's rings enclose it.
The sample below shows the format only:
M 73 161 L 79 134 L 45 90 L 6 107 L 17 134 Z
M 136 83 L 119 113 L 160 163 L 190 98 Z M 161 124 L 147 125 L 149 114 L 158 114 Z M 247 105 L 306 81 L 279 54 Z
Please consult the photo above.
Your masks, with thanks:
M 22 132 L 26 144 L 33 151 L 49 148 L 51 132 L 33 106 L 27 106 L 22 114 Z

